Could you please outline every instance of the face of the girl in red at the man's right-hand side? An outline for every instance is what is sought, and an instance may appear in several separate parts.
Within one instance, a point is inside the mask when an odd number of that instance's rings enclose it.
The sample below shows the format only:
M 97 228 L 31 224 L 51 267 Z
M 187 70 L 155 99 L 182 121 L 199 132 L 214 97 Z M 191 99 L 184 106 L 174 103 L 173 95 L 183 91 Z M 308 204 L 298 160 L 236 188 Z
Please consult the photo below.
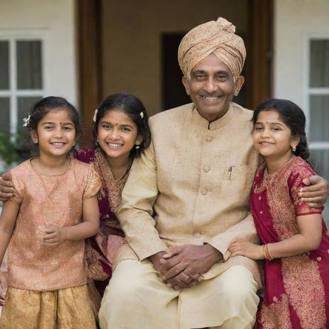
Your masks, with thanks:
M 265 158 L 281 158 L 291 154 L 291 147 L 297 145 L 296 138 L 275 110 L 258 114 L 252 139 L 256 150 Z

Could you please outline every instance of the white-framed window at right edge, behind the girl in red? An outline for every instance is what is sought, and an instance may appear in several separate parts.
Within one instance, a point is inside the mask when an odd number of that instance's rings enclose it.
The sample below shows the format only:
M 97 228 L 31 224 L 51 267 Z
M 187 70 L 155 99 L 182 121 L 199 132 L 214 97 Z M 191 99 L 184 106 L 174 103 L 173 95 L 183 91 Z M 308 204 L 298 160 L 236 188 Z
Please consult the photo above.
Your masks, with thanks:
M 317 172 L 329 180 L 329 33 L 307 37 L 308 144 Z M 329 202 L 324 217 L 329 222 Z

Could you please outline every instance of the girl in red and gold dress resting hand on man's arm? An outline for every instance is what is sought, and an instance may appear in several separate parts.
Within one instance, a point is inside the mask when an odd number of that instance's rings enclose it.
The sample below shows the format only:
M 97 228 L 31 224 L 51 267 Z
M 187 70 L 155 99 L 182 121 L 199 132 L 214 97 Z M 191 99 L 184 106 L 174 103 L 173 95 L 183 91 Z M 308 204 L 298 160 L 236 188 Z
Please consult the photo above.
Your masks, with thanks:
M 307 163 L 305 116 L 293 102 L 270 99 L 253 115 L 255 148 L 264 156 L 251 192 L 262 245 L 232 243 L 231 257 L 265 259 L 259 329 L 329 328 L 329 236 L 315 209 L 298 197 Z

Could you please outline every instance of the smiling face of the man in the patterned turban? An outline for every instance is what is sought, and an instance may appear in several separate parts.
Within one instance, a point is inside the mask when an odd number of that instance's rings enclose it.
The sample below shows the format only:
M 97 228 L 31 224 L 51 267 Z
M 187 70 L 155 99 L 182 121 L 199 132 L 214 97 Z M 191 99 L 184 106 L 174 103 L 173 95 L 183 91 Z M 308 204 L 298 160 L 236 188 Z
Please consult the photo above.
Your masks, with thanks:
M 233 83 L 229 68 L 211 53 L 193 67 L 190 81 L 183 77 L 182 83 L 197 112 L 212 122 L 228 111 L 230 101 L 239 94 L 244 78 L 239 77 Z

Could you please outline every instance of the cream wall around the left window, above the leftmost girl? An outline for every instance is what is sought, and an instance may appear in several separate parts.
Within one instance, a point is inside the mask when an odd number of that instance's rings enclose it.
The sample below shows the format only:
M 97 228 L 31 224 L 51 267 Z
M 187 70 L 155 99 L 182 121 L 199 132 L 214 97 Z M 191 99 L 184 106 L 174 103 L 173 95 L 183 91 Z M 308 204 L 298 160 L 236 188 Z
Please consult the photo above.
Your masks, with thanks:
M 77 104 L 74 0 L 0 0 L 0 31 L 41 31 L 46 35 L 46 96 Z

